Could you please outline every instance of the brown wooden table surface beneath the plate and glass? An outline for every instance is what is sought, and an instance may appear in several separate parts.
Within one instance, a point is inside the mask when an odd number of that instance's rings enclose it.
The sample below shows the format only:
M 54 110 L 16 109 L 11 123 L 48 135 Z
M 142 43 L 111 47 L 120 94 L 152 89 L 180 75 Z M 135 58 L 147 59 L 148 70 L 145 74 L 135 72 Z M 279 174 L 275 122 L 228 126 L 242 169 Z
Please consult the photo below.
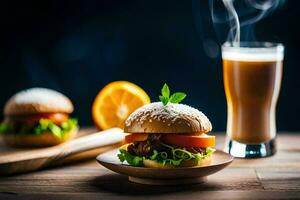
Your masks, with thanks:
M 130 183 L 95 160 L 29 174 L 0 177 L 0 199 L 300 199 L 300 134 L 278 134 L 278 152 L 235 159 L 204 184 Z M 224 134 L 217 136 L 222 149 Z

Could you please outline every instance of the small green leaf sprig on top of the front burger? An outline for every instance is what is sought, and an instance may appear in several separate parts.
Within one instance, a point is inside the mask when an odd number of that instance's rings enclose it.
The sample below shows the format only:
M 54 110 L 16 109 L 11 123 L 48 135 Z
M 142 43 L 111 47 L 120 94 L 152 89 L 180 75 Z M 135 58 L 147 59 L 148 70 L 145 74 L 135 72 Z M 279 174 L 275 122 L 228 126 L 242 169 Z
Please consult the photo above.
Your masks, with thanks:
M 170 96 L 169 86 L 165 83 L 161 89 L 161 95 L 159 96 L 159 100 L 167 105 L 168 103 L 180 103 L 185 97 L 186 94 L 183 92 L 175 92 Z

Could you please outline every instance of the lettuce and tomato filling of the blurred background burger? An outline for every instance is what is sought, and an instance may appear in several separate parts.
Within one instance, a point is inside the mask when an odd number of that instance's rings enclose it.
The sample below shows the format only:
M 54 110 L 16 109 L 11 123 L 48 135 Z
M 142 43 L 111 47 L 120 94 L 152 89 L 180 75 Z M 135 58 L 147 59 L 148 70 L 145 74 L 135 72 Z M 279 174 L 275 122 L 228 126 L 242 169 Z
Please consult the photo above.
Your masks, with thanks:
M 0 134 L 40 135 L 48 132 L 63 138 L 66 132 L 76 128 L 77 119 L 62 113 L 8 116 L 0 123 Z

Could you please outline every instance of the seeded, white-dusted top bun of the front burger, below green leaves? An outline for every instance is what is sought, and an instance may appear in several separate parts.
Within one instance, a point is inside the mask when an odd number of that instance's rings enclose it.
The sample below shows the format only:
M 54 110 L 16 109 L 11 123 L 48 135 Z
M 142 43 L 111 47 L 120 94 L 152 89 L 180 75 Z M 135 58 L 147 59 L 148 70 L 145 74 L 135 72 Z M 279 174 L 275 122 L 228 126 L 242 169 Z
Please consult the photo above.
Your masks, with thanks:
M 184 104 L 155 102 L 133 112 L 125 122 L 126 133 L 203 134 L 211 131 L 209 119 Z

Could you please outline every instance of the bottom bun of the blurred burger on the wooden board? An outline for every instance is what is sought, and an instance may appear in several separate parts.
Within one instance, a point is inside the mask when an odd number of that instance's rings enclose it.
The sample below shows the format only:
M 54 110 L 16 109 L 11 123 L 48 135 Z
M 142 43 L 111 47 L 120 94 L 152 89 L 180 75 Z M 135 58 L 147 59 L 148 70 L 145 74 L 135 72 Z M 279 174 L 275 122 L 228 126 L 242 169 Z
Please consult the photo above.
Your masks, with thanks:
M 49 147 L 61 144 L 75 137 L 78 128 L 65 132 L 62 138 L 58 138 L 51 132 L 40 135 L 34 134 L 3 134 L 3 141 L 13 147 Z

